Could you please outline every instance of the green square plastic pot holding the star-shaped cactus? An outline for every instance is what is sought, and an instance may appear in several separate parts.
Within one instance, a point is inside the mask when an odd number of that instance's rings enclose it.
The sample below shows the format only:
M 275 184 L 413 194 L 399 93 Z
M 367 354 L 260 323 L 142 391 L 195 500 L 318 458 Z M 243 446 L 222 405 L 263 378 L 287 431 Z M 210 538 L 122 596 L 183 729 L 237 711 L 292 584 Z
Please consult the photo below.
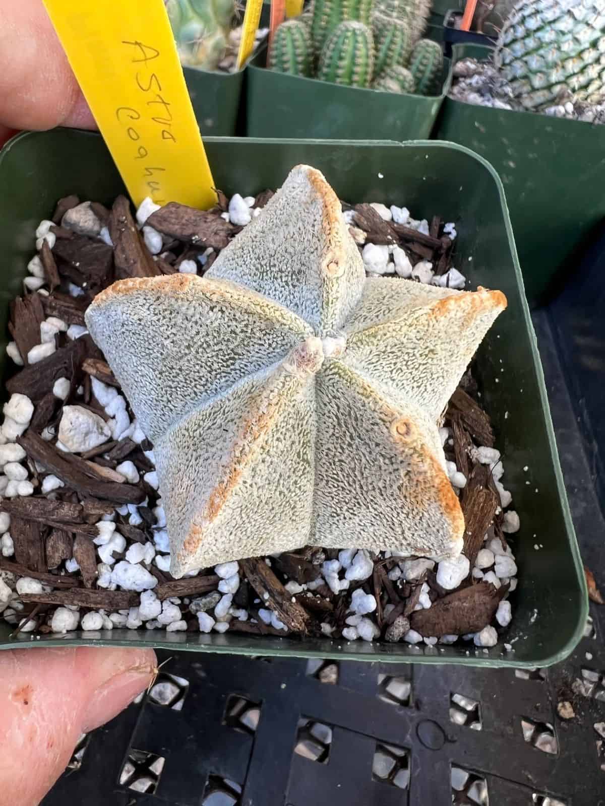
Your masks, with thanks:
M 486 667 L 536 667 L 570 654 L 586 622 L 586 586 L 557 458 L 536 339 L 516 260 L 503 188 L 493 168 L 464 147 L 436 141 L 416 143 L 207 139 L 217 187 L 225 193 L 255 194 L 281 185 L 295 164 L 319 168 L 348 202 L 405 203 L 420 217 L 440 214 L 455 221 L 455 265 L 471 287 L 501 289 L 507 311 L 478 351 L 476 376 L 490 413 L 496 443 L 507 457 L 507 487 L 521 518 L 515 540 L 519 584 L 512 594 L 514 618 L 503 646 L 467 654 L 465 647 L 408 646 L 329 638 L 258 637 L 236 634 L 158 635 L 114 629 L 98 634 L 43 635 L 10 640 L 0 622 L 0 648 L 15 646 L 157 646 L 232 654 L 303 656 L 413 663 L 460 663 Z M 193 177 L 194 181 L 194 177 Z M 59 197 L 111 204 L 123 185 L 99 135 L 55 130 L 27 133 L 0 152 L 0 361 L 5 362 L 10 301 L 21 292 L 35 227 L 52 214 Z M 455 338 L 455 334 L 453 334 Z M 4 369 L 6 372 L 8 368 Z M 528 472 L 524 471 L 528 467 Z M 527 482 L 530 484 L 527 484 Z M 538 492 L 539 491 L 539 492 Z M 541 550 L 534 544 L 541 542 Z

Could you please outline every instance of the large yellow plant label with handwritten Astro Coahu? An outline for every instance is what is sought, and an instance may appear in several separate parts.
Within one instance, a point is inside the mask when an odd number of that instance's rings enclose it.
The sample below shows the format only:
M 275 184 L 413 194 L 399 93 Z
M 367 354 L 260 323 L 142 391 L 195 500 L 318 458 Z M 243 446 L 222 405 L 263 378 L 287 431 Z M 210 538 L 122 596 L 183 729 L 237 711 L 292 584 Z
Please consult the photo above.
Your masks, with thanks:
M 132 201 L 213 206 L 214 182 L 164 0 L 44 5 Z

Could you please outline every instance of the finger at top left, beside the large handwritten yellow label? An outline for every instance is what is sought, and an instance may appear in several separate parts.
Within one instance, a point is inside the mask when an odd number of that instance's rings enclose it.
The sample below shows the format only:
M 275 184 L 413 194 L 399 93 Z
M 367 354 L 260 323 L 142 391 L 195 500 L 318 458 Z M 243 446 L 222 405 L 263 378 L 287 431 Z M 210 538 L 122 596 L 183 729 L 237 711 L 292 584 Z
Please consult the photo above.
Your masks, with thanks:
M 42 0 L 0 0 L 0 145 L 17 129 L 96 128 Z

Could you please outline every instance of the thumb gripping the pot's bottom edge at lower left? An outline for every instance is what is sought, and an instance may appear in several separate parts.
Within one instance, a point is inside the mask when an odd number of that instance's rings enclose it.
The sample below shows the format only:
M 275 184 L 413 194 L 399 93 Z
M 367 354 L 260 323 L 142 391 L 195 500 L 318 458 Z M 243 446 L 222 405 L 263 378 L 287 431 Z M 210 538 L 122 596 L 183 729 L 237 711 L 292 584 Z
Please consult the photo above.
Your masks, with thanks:
M 81 733 L 115 717 L 152 679 L 152 650 L 0 652 L 0 806 L 35 806 Z

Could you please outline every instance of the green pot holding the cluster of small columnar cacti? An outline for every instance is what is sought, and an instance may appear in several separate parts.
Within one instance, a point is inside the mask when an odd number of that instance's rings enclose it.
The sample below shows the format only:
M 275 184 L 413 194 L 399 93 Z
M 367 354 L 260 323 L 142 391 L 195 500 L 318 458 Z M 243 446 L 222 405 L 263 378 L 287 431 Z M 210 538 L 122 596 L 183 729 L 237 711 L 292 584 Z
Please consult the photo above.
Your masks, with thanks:
M 263 49 L 246 71 L 248 137 L 426 138 L 449 90 L 449 60 L 444 63 L 441 94 L 424 96 L 345 87 L 276 73 L 265 68 L 266 59 Z

